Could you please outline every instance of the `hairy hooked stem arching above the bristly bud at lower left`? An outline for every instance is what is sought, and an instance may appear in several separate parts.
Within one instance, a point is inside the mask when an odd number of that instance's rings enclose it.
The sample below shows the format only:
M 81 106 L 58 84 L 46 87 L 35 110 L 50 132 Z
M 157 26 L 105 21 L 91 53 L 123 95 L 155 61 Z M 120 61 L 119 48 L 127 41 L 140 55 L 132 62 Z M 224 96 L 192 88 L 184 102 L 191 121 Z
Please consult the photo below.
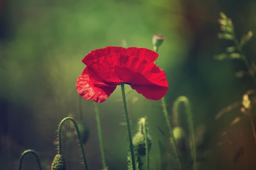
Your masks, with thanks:
M 63 120 L 61 120 L 61 123 L 58 126 L 58 154 L 62 155 L 62 150 L 61 150 L 62 149 L 62 146 L 61 146 L 61 128 L 62 128 L 63 123 L 66 122 L 67 120 L 72 121 L 74 126 L 75 126 L 75 128 L 76 128 L 77 137 L 78 137 L 79 144 L 81 146 L 81 152 L 82 152 L 82 155 L 83 155 L 83 162 L 84 162 L 85 170 L 88 170 L 88 166 L 87 166 L 87 161 L 86 161 L 86 158 L 85 158 L 85 152 L 84 152 L 84 149 L 83 149 L 83 142 L 82 142 L 82 139 L 81 139 L 81 135 L 80 135 L 77 123 L 76 123 L 76 121 L 73 118 L 70 118 L 70 117 L 64 118 Z

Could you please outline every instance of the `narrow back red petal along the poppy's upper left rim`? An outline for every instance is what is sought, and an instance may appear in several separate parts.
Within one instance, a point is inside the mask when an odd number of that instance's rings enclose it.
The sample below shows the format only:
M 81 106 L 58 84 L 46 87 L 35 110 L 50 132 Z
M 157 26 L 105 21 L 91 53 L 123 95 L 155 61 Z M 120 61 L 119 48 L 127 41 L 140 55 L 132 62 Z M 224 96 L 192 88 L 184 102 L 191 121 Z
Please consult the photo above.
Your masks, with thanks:
M 126 48 L 122 48 L 122 47 L 106 47 L 106 48 L 101 48 L 101 49 L 97 49 L 97 50 L 93 50 L 92 52 L 90 52 L 89 54 L 87 54 L 82 62 L 85 65 L 89 65 L 93 60 L 95 59 L 99 59 L 100 57 L 104 57 L 110 54 L 126 54 L 127 49 Z

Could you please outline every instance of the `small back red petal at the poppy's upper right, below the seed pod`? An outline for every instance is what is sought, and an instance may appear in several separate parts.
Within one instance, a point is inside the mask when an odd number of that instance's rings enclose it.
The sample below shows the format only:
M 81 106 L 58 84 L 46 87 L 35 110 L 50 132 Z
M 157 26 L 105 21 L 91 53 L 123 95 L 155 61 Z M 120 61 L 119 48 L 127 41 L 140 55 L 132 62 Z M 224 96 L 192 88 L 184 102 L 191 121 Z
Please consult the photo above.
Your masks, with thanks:
M 158 57 L 158 54 L 156 52 L 148 50 L 146 48 L 130 47 L 127 48 L 127 50 L 130 55 L 139 57 L 139 59 L 145 59 L 146 61 L 149 61 L 151 63 L 153 63 Z

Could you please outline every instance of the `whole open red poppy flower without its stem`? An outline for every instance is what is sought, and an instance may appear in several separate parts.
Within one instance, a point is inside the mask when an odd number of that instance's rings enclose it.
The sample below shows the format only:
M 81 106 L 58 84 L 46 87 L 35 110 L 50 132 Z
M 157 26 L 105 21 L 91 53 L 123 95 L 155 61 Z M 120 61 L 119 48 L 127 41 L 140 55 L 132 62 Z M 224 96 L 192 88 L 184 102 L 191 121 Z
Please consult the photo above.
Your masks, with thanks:
M 159 100 L 168 83 L 155 65 L 158 54 L 146 48 L 106 47 L 93 50 L 82 60 L 85 69 L 77 79 L 77 92 L 87 100 L 105 101 L 117 85 L 126 83 L 150 100 Z

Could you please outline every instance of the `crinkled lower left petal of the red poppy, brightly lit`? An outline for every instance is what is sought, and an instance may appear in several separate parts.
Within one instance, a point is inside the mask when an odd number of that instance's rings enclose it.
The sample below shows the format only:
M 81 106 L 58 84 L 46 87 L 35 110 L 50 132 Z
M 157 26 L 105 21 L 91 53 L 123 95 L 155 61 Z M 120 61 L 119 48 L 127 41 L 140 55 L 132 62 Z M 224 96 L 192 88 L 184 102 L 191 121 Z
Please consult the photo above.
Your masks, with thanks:
M 114 92 L 116 86 L 97 81 L 84 70 L 77 79 L 76 89 L 86 100 L 94 100 L 100 103 L 104 102 Z

